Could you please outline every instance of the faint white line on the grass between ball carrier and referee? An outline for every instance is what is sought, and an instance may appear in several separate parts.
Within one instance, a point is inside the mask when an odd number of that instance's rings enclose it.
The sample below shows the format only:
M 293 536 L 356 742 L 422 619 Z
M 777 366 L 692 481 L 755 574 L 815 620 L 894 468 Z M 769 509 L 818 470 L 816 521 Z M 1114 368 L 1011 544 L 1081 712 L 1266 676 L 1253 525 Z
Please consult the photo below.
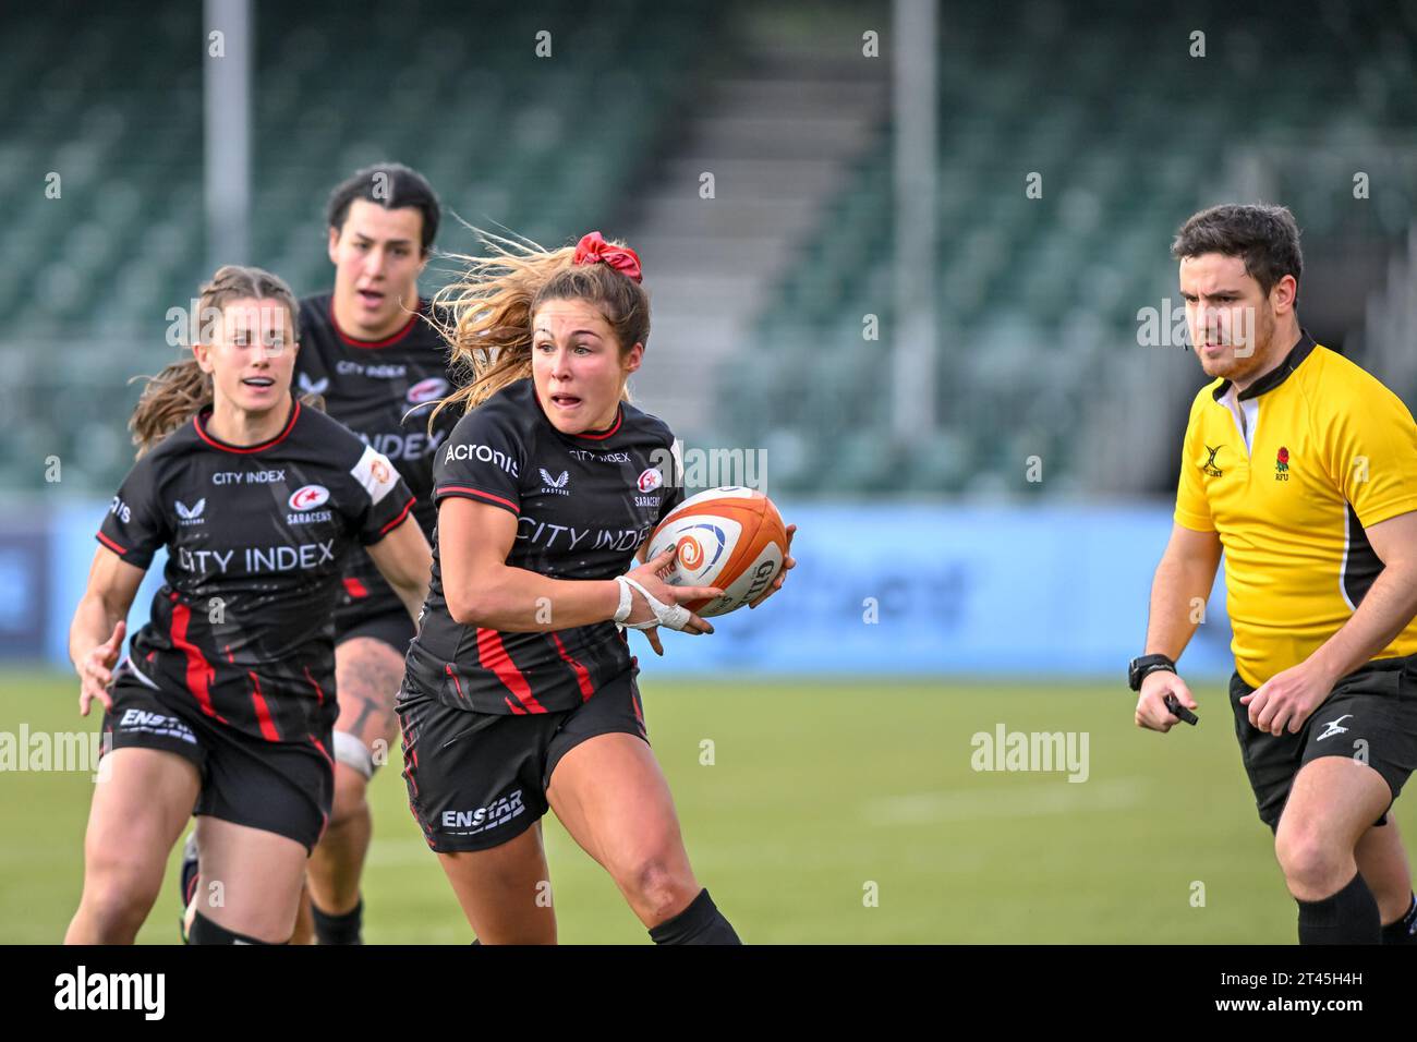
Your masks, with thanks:
M 1067 775 L 1033 785 L 992 787 L 981 775 L 969 791 L 913 792 L 873 800 L 862 808 L 874 825 L 922 825 L 938 821 L 981 821 L 985 818 L 1033 818 L 1047 814 L 1121 811 L 1142 802 L 1148 778 L 1073 783 Z

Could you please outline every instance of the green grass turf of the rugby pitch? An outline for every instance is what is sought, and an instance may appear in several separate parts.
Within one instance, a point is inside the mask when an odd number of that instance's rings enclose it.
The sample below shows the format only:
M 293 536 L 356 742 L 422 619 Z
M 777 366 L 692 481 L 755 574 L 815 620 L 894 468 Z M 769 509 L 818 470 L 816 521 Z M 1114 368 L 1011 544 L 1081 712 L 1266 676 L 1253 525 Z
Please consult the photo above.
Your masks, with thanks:
M 1121 686 L 640 680 L 694 870 L 745 941 L 1294 941 L 1219 686 L 1197 690 L 1200 727 L 1162 737 L 1132 726 Z M 75 692 L 64 675 L 0 673 L 0 732 L 78 729 Z M 1088 780 L 976 773 L 971 737 L 998 723 L 1087 732 Z M 91 785 L 0 773 L 0 941 L 62 937 Z M 397 763 L 371 792 L 366 940 L 466 943 Z M 1417 835 L 1410 807 L 1397 818 Z M 546 835 L 561 940 L 648 943 L 554 818 Z M 139 940 L 174 940 L 176 887 L 174 862 Z

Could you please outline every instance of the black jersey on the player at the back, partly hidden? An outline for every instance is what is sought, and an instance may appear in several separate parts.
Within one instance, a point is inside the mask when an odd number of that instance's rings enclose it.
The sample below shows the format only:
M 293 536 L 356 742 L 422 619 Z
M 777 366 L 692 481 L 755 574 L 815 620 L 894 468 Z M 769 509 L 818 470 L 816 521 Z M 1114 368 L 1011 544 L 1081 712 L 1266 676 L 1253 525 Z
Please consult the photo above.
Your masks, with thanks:
M 428 323 L 428 301 L 393 336 L 359 340 L 334 320 L 332 293 L 300 301 L 295 387 L 324 396 L 324 411 L 388 456 L 417 496 L 414 517 L 432 542 L 434 451 L 458 417 L 444 410 L 429 434 L 434 403 L 448 394 L 448 344 Z M 404 610 L 363 550 L 350 554 L 341 604 L 361 617 Z

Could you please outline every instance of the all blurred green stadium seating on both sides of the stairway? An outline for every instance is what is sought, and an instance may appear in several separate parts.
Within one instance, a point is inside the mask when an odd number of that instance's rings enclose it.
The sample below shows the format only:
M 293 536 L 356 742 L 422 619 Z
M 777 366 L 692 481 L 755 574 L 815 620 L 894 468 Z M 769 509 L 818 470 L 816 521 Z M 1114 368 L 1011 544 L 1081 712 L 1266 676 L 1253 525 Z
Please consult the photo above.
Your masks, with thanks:
M 299 293 L 329 285 L 324 193 L 385 157 L 422 169 L 442 193 L 446 250 L 475 245 L 459 218 L 543 242 L 591 227 L 635 227 L 653 242 L 667 217 L 646 201 L 646 179 L 676 155 L 701 155 L 680 139 L 703 108 L 706 69 L 751 64 L 743 38 L 761 35 L 767 17 L 649 0 L 599 6 L 594 20 L 570 1 L 408 0 L 360 23 L 344 10 L 256 4 L 249 259 Z M 673 335 L 716 305 L 676 316 L 693 288 L 659 284 L 656 329 L 670 335 L 656 339 L 653 364 L 669 383 L 693 373 L 694 394 L 714 403 L 679 432 L 769 448 L 774 491 L 796 493 L 1161 491 L 1175 445 L 1136 391 L 1148 379 L 1172 388 L 1161 411 L 1173 414 L 1195 386 L 1193 359 L 1173 350 L 1156 366 L 1136 343 L 1136 312 L 1178 303 L 1166 250 L 1178 223 L 1217 198 L 1264 197 L 1287 201 L 1315 247 L 1396 248 L 1417 207 L 1411 7 L 1287 10 L 1258 20 L 1220 0 L 1178 13 L 1124 0 L 1036 0 L 1006 14 L 942 6 L 938 369 L 921 374 L 935 384 L 939 428 L 905 444 L 890 432 L 883 109 L 721 357 L 700 367 L 699 349 L 676 349 Z M 870 11 L 888 26 L 886 6 Z M 859 34 L 854 11 L 818 14 L 823 40 Z M 1197 28 L 1204 58 L 1189 54 Z M 551 58 L 536 54 L 543 30 Z M 137 393 L 123 380 L 173 357 L 169 309 L 211 265 L 203 33 L 200 6 L 180 0 L 65 0 L 7 17 L 0 190 L 18 206 L 0 237 L 13 275 L 0 279 L 0 349 L 17 376 L 0 388 L 16 431 L 0 448 L 0 486 L 40 488 L 48 455 L 72 464 L 75 492 L 105 492 L 122 475 Z M 1362 207 L 1355 170 L 1373 180 Z M 62 177 L 60 198 L 41 191 L 50 172 Z M 1041 198 L 1024 194 L 1030 172 L 1043 174 Z M 706 252 L 721 245 L 704 241 Z M 733 274 L 731 257 L 724 265 Z M 435 258 L 425 288 L 448 268 Z M 737 299 L 731 279 L 703 285 Z M 863 339 L 866 315 L 879 340 Z M 811 381 L 794 380 L 803 371 Z M 843 431 L 849 445 L 837 444 Z M 1041 486 L 1024 479 L 1033 455 Z

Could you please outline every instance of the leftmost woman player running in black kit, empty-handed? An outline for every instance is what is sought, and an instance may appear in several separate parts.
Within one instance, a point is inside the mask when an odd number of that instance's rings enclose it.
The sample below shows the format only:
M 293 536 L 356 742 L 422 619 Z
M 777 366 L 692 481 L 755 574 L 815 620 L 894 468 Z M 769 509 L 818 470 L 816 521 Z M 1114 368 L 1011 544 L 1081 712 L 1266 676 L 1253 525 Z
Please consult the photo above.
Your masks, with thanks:
M 225 267 L 200 306 L 193 357 L 159 374 L 133 414 L 139 461 L 69 631 L 79 712 L 103 705 L 106 746 L 69 943 L 133 940 L 193 812 L 214 889 L 190 940 L 286 941 L 330 812 L 346 551 L 366 546 L 411 615 L 427 591 L 428 542 L 398 472 L 290 396 L 290 291 Z M 160 546 L 166 586 L 115 668 Z

